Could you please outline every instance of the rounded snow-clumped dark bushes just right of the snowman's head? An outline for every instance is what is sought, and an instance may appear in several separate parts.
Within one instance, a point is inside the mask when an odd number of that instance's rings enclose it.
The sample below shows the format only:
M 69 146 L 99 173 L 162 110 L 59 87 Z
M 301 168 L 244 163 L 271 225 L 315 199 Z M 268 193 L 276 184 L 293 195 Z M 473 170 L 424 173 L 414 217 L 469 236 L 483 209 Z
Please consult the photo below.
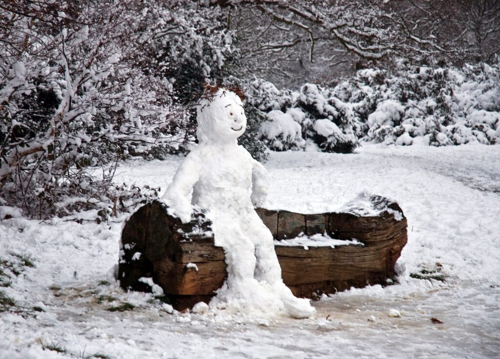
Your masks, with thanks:
M 257 107 L 270 120 L 261 126 L 260 138 L 271 150 L 312 146 L 324 152 L 350 153 L 357 146 L 351 106 L 330 89 L 307 83 L 299 91 L 279 91 L 259 80 L 250 88 Z

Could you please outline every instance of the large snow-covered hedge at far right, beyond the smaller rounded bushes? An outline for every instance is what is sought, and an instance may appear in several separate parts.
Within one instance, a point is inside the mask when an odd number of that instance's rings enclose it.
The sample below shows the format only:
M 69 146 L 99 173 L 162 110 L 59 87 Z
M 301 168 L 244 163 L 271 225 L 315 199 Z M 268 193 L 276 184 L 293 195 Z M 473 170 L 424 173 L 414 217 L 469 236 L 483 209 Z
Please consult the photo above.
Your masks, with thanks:
M 366 121 L 359 114 L 359 136 L 396 145 L 411 145 L 414 138 L 433 146 L 498 143 L 499 84 L 498 64 L 403 67 L 365 91 L 365 107 L 373 108 L 371 92 L 377 93 L 376 108 Z

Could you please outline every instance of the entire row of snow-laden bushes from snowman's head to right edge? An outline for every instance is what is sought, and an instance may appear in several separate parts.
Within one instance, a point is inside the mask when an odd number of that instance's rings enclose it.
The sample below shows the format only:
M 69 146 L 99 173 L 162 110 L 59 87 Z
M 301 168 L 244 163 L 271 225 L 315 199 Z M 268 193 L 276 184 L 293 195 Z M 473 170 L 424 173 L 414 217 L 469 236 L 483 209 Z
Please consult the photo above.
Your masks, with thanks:
M 276 151 L 352 152 L 358 141 L 432 146 L 500 143 L 500 65 L 359 70 L 331 89 L 277 90 L 255 80 L 269 118 L 260 138 Z M 297 126 L 299 125 L 299 126 Z

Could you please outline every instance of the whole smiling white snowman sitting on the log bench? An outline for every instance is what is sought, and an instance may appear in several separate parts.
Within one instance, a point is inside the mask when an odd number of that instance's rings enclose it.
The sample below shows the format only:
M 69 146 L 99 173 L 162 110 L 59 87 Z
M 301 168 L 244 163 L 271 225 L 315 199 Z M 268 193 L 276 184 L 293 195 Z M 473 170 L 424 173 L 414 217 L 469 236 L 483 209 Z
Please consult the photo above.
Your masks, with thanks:
M 246 128 L 240 98 L 218 89 L 197 107 L 199 145 L 180 165 L 163 199 L 182 222 L 193 207 L 208 208 L 215 245 L 224 248 L 227 280 L 212 308 L 307 318 L 315 309 L 295 298 L 281 279 L 273 238 L 253 209 L 267 196 L 262 165 L 237 144 Z M 187 195 L 192 190 L 191 202 Z

